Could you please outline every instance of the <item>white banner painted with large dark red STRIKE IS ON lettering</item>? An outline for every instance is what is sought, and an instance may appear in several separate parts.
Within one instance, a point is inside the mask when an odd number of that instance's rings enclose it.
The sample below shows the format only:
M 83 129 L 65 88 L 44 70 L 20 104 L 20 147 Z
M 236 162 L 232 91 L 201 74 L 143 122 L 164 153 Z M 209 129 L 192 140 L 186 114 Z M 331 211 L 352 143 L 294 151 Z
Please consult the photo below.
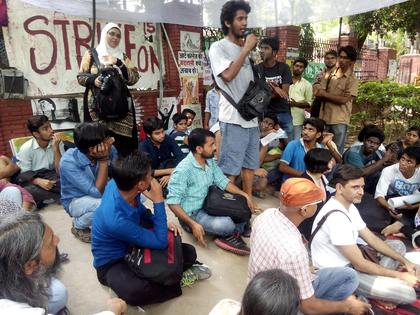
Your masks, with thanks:
M 80 61 L 92 38 L 87 18 L 45 11 L 18 0 L 8 1 L 9 26 L 3 28 L 9 64 L 29 80 L 29 96 L 81 93 Z M 108 21 L 98 21 L 96 41 Z M 112 21 L 118 23 L 118 21 Z M 121 45 L 140 72 L 130 88 L 156 89 L 159 80 L 156 26 L 121 23 Z M 164 65 L 162 65 L 164 67 Z M 164 69 L 163 69 L 164 71 Z

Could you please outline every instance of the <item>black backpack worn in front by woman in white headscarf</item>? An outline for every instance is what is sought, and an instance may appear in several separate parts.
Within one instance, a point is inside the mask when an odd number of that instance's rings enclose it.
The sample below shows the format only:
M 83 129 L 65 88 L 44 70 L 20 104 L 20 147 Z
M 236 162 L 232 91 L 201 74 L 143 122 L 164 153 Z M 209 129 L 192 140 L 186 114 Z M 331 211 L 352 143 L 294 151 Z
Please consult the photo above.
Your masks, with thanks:
M 92 49 L 93 61 L 101 69 L 96 49 Z M 99 78 L 102 87 L 93 87 L 93 109 L 102 120 L 118 120 L 127 116 L 130 97 L 127 85 L 115 68 L 100 70 Z

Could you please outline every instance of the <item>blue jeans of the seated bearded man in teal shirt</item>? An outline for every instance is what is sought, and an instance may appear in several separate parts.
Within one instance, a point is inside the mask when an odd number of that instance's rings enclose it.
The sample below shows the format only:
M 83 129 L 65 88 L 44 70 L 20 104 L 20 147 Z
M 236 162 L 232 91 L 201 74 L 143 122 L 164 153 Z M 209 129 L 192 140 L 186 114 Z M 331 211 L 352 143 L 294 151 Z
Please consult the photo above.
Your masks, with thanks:
M 216 217 L 207 214 L 204 210 L 197 210 L 191 215 L 191 219 L 201 224 L 206 233 L 215 236 L 229 236 L 236 232 L 242 234 L 245 223 L 234 223 L 230 217 Z M 189 226 L 181 222 L 182 227 L 191 233 Z

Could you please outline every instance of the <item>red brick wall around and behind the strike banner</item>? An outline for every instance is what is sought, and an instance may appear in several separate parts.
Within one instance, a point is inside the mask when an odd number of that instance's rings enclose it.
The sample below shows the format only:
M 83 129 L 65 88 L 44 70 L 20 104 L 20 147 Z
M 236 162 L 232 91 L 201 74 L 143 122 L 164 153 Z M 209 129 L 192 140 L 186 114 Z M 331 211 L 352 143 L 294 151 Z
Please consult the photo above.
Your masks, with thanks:
M 165 24 L 168 37 L 172 44 L 175 57 L 178 57 L 180 50 L 180 31 L 201 32 L 201 28 L 192 26 L 182 26 L 175 24 Z M 169 51 L 168 42 L 162 31 L 163 39 L 163 60 L 165 62 L 166 73 L 163 82 L 163 95 L 178 96 L 181 87 L 174 60 Z M 199 80 L 200 102 L 203 104 L 203 84 Z M 156 99 L 159 97 L 159 91 L 140 91 L 134 92 L 133 98 L 136 104 L 140 106 L 141 119 L 145 120 L 149 117 L 157 115 Z M 11 156 L 8 141 L 11 138 L 22 137 L 29 135 L 26 130 L 26 121 L 32 116 L 31 101 L 25 100 L 5 100 L 0 99 L 0 154 Z M 138 121 L 141 124 L 141 121 Z

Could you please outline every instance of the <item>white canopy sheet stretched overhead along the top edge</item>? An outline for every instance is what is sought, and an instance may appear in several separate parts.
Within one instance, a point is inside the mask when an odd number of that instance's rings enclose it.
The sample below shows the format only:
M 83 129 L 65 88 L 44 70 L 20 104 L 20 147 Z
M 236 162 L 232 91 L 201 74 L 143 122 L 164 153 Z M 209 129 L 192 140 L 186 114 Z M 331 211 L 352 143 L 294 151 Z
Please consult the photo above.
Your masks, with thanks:
M 13 1 L 13 0 L 8 0 Z M 62 12 L 92 17 L 92 0 L 22 0 Z M 376 10 L 407 0 L 250 0 L 249 27 L 298 25 Z M 98 19 L 220 27 L 223 0 L 97 0 Z

